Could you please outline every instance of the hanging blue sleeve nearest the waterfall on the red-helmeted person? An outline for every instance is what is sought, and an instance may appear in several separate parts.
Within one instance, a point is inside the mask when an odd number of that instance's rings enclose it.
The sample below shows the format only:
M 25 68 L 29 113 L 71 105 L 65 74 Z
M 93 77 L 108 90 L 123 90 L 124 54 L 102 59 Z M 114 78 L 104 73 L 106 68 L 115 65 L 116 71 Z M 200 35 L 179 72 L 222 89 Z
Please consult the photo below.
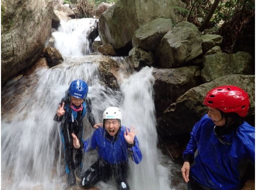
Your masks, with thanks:
M 202 123 L 201 120 L 194 125 L 190 133 L 190 140 L 187 144 L 185 151 L 183 152 L 184 161 L 189 161 L 191 163 L 194 160 L 194 154 L 197 149 L 197 142 L 200 137 L 201 123 Z

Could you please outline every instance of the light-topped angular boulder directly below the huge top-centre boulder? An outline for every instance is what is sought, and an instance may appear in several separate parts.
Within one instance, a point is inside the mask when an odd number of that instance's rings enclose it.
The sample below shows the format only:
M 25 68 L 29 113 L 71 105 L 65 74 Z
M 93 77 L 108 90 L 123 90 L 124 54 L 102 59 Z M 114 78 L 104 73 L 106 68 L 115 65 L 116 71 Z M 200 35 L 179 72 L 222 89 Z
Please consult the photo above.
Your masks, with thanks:
M 144 24 L 134 32 L 133 47 L 155 50 L 163 36 L 172 28 L 172 20 L 157 18 Z

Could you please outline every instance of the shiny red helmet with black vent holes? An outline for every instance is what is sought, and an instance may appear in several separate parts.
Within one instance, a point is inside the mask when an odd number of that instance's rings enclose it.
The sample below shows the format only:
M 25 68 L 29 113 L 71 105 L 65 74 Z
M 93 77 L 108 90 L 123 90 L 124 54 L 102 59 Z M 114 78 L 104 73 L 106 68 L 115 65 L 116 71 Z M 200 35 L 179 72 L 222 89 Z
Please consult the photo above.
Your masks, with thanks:
M 211 89 L 204 98 L 206 106 L 221 111 L 235 112 L 241 117 L 247 115 L 249 109 L 248 94 L 237 86 L 226 85 Z

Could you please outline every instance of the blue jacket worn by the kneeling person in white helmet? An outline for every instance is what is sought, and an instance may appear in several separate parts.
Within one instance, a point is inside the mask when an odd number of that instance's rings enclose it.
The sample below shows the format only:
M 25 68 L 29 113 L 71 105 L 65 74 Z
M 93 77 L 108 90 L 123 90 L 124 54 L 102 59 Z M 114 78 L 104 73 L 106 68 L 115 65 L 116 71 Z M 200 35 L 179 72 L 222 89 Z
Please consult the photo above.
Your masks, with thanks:
M 98 148 L 99 158 L 111 164 L 127 162 L 128 156 L 131 154 L 135 163 L 142 160 L 142 153 L 139 147 L 139 141 L 135 136 L 135 145 L 130 147 L 124 138 L 125 126 L 121 126 L 117 133 L 116 139 L 107 135 L 107 131 L 103 127 L 97 128 L 92 137 L 83 141 L 85 151 Z

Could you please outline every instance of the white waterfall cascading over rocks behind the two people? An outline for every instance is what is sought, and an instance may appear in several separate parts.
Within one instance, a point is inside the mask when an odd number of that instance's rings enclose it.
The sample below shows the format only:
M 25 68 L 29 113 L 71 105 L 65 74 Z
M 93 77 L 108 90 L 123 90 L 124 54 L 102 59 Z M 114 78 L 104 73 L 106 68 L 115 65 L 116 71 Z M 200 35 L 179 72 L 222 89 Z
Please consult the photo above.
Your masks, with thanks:
M 25 86 L 15 109 L 2 114 L 2 189 L 67 187 L 60 125 L 53 116 L 70 82 L 77 78 L 89 85 L 88 97 L 96 122 L 102 122 L 106 107 L 119 106 L 123 113 L 122 124 L 133 125 L 138 130 L 143 160 L 140 164 L 129 161 L 131 189 L 177 188 L 170 180 L 175 177 L 171 173 L 175 165 L 157 148 L 153 68 L 145 67 L 132 73 L 124 57 L 113 57 L 122 68 L 119 70 L 120 90 L 103 86 L 99 81 L 98 63 L 91 61 L 89 56 L 92 55 L 86 55 L 90 50 L 85 36 L 94 21 L 83 18 L 61 22 L 53 35 L 64 62 L 49 69 L 39 69 L 29 77 L 20 78 L 19 82 L 10 81 L 9 87 L 3 89 L 2 100 L 14 104 L 17 91 Z M 84 118 L 84 127 L 86 138 L 94 130 L 87 118 Z M 83 170 L 96 160 L 96 156 L 95 152 L 84 154 Z M 116 189 L 111 180 L 96 186 L 101 190 Z M 72 188 L 79 188 L 79 184 Z

